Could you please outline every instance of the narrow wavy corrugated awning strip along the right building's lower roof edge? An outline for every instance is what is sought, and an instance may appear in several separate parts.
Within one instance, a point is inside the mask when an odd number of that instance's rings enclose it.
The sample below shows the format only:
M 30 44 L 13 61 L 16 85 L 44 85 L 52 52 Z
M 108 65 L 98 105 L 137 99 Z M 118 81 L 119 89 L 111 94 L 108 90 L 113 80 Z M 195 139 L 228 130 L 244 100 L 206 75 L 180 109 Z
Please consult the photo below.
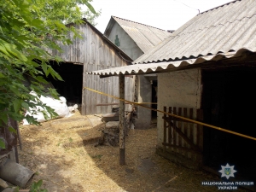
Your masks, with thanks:
M 178 69 L 188 68 L 190 66 L 196 67 L 196 66 L 199 66 L 199 64 L 205 65 L 204 63 L 206 61 L 215 62 L 223 59 L 240 57 L 242 54 L 248 51 L 253 52 L 252 50 L 249 50 L 249 49 L 239 49 L 238 51 L 233 51 L 226 54 L 220 53 L 218 55 L 201 56 L 195 59 L 189 59 L 184 61 L 163 61 L 158 63 L 136 64 L 136 65 L 125 66 L 125 67 L 114 67 L 110 69 L 90 72 L 89 74 L 108 77 L 108 76 L 118 76 L 120 74 L 139 75 L 139 74 L 147 74 L 147 73 L 166 73 L 166 72 L 171 72 Z M 194 65 L 194 64 L 198 64 L 198 65 Z

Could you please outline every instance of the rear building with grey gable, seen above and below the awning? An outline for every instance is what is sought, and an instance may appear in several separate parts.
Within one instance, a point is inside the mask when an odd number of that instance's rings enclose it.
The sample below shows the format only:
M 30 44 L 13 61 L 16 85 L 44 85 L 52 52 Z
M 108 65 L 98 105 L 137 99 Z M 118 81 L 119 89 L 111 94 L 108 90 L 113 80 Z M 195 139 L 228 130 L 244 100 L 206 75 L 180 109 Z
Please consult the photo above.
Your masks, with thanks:
M 111 16 L 104 35 L 129 55 L 132 60 L 153 49 L 172 33 L 165 30 Z M 144 102 L 148 107 L 157 108 L 157 75 L 137 76 L 135 86 L 135 101 Z M 150 104 L 151 103 L 151 104 Z M 154 104 L 153 104 L 154 103 Z M 146 108 L 137 108 L 137 119 L 134 120 L 135 128 L 148 129 L 157 114 Z

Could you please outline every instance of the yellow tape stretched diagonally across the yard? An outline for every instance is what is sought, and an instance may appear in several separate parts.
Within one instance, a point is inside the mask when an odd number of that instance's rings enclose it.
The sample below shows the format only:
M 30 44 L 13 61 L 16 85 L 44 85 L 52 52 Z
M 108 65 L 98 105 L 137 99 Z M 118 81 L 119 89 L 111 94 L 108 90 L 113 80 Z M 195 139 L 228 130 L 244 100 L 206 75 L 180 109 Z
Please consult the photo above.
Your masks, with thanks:
M 114 99 L 118 99 L 118 100 L 123 101 L 123 102 L 128 102 L 128 103 L 131 103 L 131 104 L 133 104 L 133 105 L 137 105 L 137 106 L 140 106 L 140 107 L 143 107 L 143 108 L 148 108 L 147 106 L 143 106 L 142 104 L 140 104 L 140 103 L 138 103 L 138 102 L 130 102 L 130 101 L 128 101 L 128 100 L 121 99 L 121 98 L 119 98 L 119 97 L 117 97 L 117 96 L 111 96 L 111 95 L 108 95 L 107 93 L 103 93 L 103 92 L 98 91 L 98 90 L 92 90 L 92 89 L 90 89 L 90 88 L 88 88 L 88 87 L 84 87 L 84 88 L 83 88 L 83 90 L 85 90 L 85 89 L 86 89 L 86 90 L 93 91 L 93 92 L 96 92 L 96 93 L 98 93 L 98 94 L 102 94 L 103 96 L 110 96 L 110 97 L 112 97 L 112 98 L 114 98 Z M 184 117 L 179 116 L 179 115 L 177 115 L 177 114 L 167 113 L 167 112 L 164 112 L 164 111 L 160 111 L 160 110 L 158 110 L 158 109 L 155 109 L 155 108 L 148 108 L 148 109 L 150 109 L 150 110 L 152 110 L 152 111 L 159 112 L 159 113 L 165 113 L 165 114 L 167 114 L 167 115 L 169 115 L 169 116 L 172 116 L 172 117 L 175 117 L 175 118 L 178 118 L 178 119 L 183 119 L 183 120 L 189 121 L 189 122 L 191 122 L 191 123 L 195 123 L 195 124 L 198 124 L 198 125 L 204 125 L 204 126 L 207 126 L 207 127 L 210 127 L 210 128 L 216 129 L 216 130 L 219 130 L 219 131 L 228 132 L 228 133 L 234 134 L 234 135 L 236 135 L 236 136 L 246 137 L 246 138 L 248 138 L 248 139 L 253 139 L 254 141 L 256 141 L 256 138 L 255 138 L 255 137 L 250 137 L 250 136 L 241 134 L 241 133 L 239 133 L 239 132 L 226 130 L 226 129 L 221 128 L 221 127 L 218 127 L 218 126 L 209 125 L 209 124 L 206 124 L 206 123 L 203 123 L 203 122 L 194 120 L 194 119 L 184 118 Z

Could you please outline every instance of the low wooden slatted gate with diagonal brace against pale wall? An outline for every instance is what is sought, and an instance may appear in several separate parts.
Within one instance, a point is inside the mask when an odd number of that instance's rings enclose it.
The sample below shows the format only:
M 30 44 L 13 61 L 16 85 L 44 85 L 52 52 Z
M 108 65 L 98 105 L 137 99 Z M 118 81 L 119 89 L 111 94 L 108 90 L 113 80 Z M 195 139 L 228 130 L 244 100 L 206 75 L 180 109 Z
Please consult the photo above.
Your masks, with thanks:
M 188 119 L 203 120 L 202 109 L 193 108 L 167 108 L 164 111 L 177 114 Z M 203 127 L 183 119 L 174 118 L 164 114 L 164 141 L 163 152 L 179 156 L 186 160 L 192 160 L 202 165 Z M 172 155 L 173 156 L 173 155 Z M 177 161 L 177 160 L 175 160 Z

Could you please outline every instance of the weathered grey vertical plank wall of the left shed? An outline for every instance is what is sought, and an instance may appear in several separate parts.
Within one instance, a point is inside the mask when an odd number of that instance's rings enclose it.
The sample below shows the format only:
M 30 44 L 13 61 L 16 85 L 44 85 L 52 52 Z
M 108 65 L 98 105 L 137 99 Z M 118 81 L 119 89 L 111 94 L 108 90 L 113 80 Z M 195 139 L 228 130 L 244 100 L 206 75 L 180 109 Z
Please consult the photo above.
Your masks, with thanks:
M 118 77 L 100 79 L 99 76 L 89 75 L 86 72 L 126 66 L 129 62 L 122 59 L 118 51 L 89 25 L 82 24 L 76 27 L 82 32 L 82 39 L 73 39 L 73 34 L 70 33 L 68 35 L 73 40 L 73 44 L 68 46 L 60 44 L 64 50 L 63 53 L 57 53 L 56 50 L 49 50 L 49 52 L 59 55 L 66 62 L 84 64 L 83 87 L 119 96 Z M 134 98 L 134 82 L 135 77 L 125 78 L 125 99 L 131 102 Z M 111 113 L 112 105 L 96 106 L 96 104 L 119 102 L 111 97 L 102 96 L 89 90 L 83 90 L 81 93 L 83 94 L 82 114 Z M 128 107 L 128 105 L 125 105 L 125 110 L 128 110 Z

